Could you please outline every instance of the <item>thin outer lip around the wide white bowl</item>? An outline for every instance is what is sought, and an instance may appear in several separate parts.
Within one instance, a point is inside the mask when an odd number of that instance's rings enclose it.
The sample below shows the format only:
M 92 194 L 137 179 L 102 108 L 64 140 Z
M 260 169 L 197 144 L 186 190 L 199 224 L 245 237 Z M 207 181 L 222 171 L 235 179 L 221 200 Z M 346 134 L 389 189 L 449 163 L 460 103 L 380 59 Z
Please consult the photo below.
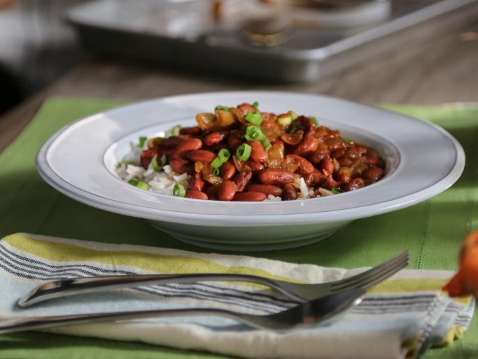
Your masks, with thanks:
M 443 176 L 439 181 L 434 183 L 428 188 L 425 188 L 424 190 L 419 190 L 413 194 L 407 195 L 407 196 L 402 196 L 402 197 L 397 197 L 395 199 L 389 200 L 389 201 L 380 201 L 376 204 L 372 205 L 367 205 L 367 206 L 355 206 L 353 208 L 341 208 L 339 210 L 335 211 L 327 211 L 327 212 L 312 212 L 312 213 L 297 213 L 297 214 L 292 214 L 292 213 L 274 213 L 270 215 L 266 214 L 261 214 L 261 215 L 234 215 L 234 214 L 201 214 L 201 213 L 193 213 L 193 212 L 177 212 L 177 211 L 168 211 L 168 210 L 163 210 L 163 209 L 158 209 L 158 208 L 149 208 L 149 207 L 141 207 L 141 206 L 132 206 L 130 204 L 124 204 L 121 201 L 116 201 L 115 199 L 109 199 L 105 197 L 98 196 L 98 194 L 92 194 L 90 192 L 86 192 L 85 190 L 82 190 L 81 188 L 78 188 L 75 185 L 72 185 L 68 181 L 65 181 L 65 179 L 61 178 L 59 174 L 56 174 L 54 169 L 49 166 L 49 163 L 47 161 L 47 153 L 49 151 L 49 148 L 51 148 L 52 144 L 56 142 L 61 135 L 67 131 L 68 129 L 72 128 L 72 126 L 77 125 L 77 123 L 81 123 L 82 121 L 92 119 L 95 116 L 98 116 L 100 114 L 114 114 L 115 112 L 121 112 L 123 109 L 128 108 L 129 110 L 134 110 L 137 109 L 138 107 L 141 108 L 145 105 L 151 104 L 153 102 L 161 102 L 164 100 L 171 100 L 171 99 L 187 99 L 192 97 L 197 97 L 197 96 L 222 96 L 222 95 L 234 95 L 234 96 L 242 96 L 242 98 L 247 96 L 254 96 L 254 93 L 259 93 L 259 94 L 277 94 L 280 96 L 313 96 L 314 98 L 323 98 L 323 99 L 333 99 L 333 100 L 339 100 L 341 102 L 348 102 L 349 104 L 353 105 L 360 105 L 360 107 L 364 108 L 370 108 L 374 109 L 375 111 L 381 112 L 383 114 L 394 114 L 394 115 L 399 115 L 403 118 L 407 118 L 413 121 L 419 121 L 420 123 L 426 123 L 432 130 L 437 130 L 438 132 L 441 132 L 442 135 L 445 135 L 445 137 L 449 138 L 454 146 L 454 149 L 456 151 L 456 160 L 454 163 L 454 166 L 449 170 L 445 176 Z M 387 139 L 387 141 L 389 141 Z M 390 142 L 390 141 L 389 141 Z M 393 142 L 390 142 L 393 144 Z M 400 151 L 399 154 L 401 155 Z M 401 165 L 401 162 L 399 166 Z M 362 217 L 369 217 L 371 215 L 378 215 L 380 213 L 386 213 L 390 211 L 395 211 L 396 209 L 399 208 L 405 208 L 407 206 L 411 206 L 413 204 L 416 204 L 420 201 L 424 201 L 426 199 L 429 199 L 436 194 L 443 192 L 447 188 L 449 188 L 455 181 L 458 180 L 458 178 L 461 176 L 463 169 L 465 165 L 465 153 L 463 151 L 463 148 L 459 142 L 454 139 L 452 135 L 449 134 L 449 132 L 443 130 L 440 128 L 438 125 L 435 125 L 434 123 L 431 123 L 429 121 L 423 121 L 420 119 L 415 119 L 412 116 L 407 116 L 403 114 L 396 114 L 394 112 L 387 111 L 386 109 L 376 107 L 373 105 L 364 105 L 360 102 L 353 102 L 350 100 L 344 100 L 341 98 L 337 98 L 334 96 L 323 96 L 323 95 L 316 95 L 316 94 L 311 94 L 311 93 L 298 93 L 298 92 L 289 92 L 289 91 L 217 91 L 217 92 L 208 92 L 208 93 L 191 93 L 191 94 L 185 94 L 185 95 L 179 95 L 179 96 L 167 96 L 167 97 L 162 97 L 162 98 L 155 98 L 155 99 L 150 99 L 150 100 L 143 100 L 139 102 L 134 102 L 130 105 L 122 105 L 119 107 L 116 107 L 114 109 L 108 109 L 102 112 L 98 112 L 97 114 L 93 114 L 91 116 L 86 116 L 82 119 L 79 119 L 77 121 L 73 121 L 72 123 L 69 123 L 68 125 L 63 126 L 59 131 L 57 131 L 52 137 L 50 137 L 47 142 L 40 148 L 40 151 L 38 151 L 38 155 L 36 157 L 36 166 L 38 169 L 38 172 L 40 173 L 40 176 L 49 183 L 49 185 L 52 185 L 52 187 L 56 188 L 56 190 L 59 190 L 59 192 L 62 192 L 63 194 L 67 195 L 68 197 L 72 197 L 73 199 L 80 201 L 84 204 L 87 204 L 88 206 L 93 206 L 95 208 L 100 208 L 105 211 L 111 211 L 114 213 L 120 213 L 123 215 L 130 215 L 133 217 L 141 217 L 149 220 L 159 220 L 159 221 L 164 221 L 164 222 L 177 222 L 177 223 L 185 223 L 185 224 L 198 224 L 198 225 L 207 225 L 207 226 L 237 226 L 238 224 L 247 224 L 250 226 L 261 226 L 264 224 L 318 224 L 318 223 L 325 223 L 325 222 L 339 222 L 339 221 L 348 221 L 348 220 L 355 220 L 358 218 Z M 107 169 L 106 169 L 107 170 Z M 108 171 L 108 170 L 107 170 Z M 387 181 L 387 179 L 392 178 L 390 176 L 389 178 L 385 178 L 383 181 Z M 373 187 L 368 186 L 367 188 Z M 367 188 L 364 188 L 363 190 L 366 190 Z M 137 189 L 134 189 L 137 190 Z M 139 191 L 139 190 L 138 190 Z M 151 194 L 158 195 L 157 193 L 151 192 Z M 161 195 L 161 194 L 159 194 Z M 341 196 L 346 196 L 346 194 L 341 194 Z M 177 199 L 174 197 L 176 200 L 183 200 L 183 199 Z M 200 201 L 200 200 L 195 200 L 195 199 L 187 199 L 188 201 Z M 306 199 L 306 200 L 299 200 L 302 202 L 307 202 L 307 201 L 314 201 L 318 200 L 320 201 L 321 199 Z M 202 201 L 203 202 L 203 201 Z M 252 204 L 253 206 L 268 206 L 269 203 L 254 203 Z M 251 205 L 250 202 L 248 202 L 249 205 Z M 231 206 L 243 206 L 243 204 L 238 204 L 238 202 L 234 202 L 233 204 L 230 204 Z

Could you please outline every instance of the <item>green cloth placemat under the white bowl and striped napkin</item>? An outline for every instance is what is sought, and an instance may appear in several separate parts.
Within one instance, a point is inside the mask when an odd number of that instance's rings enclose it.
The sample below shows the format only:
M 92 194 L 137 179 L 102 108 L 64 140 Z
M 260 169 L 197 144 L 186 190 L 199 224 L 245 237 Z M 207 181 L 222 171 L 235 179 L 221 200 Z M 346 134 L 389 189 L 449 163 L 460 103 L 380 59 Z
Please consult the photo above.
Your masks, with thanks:
M 137 218 L 79 204 L 50 188 L 37 174 L 35 155 L 63 125 L 82 116 L 123 104 L 88 98 L 50 98 L 15 142 L 0 155 L 0 236 L 29 232 L 107 243 L 174 247 L 179 243 Z M 455 269 L 461 240 L 478 229 L 478 106 L 386 106 L 433 121 L 465 148 L 467 165 L 460 180 L 429 201 L 394 213 L 357 220 L 328 240 L 294 250 L 253 254 L 297 263 L 353 268 L 372 266 L 410 250 L 411 268 Z M 133 243 L 132 243 L 133 244 Z M 250 254 L 249 254 L 250 255 Z M 478 358 L 477 320 L 465 337 L 426 358 Z M 224 358 L 140 343 L 21 333 L 0 337 L 0 358 Z

